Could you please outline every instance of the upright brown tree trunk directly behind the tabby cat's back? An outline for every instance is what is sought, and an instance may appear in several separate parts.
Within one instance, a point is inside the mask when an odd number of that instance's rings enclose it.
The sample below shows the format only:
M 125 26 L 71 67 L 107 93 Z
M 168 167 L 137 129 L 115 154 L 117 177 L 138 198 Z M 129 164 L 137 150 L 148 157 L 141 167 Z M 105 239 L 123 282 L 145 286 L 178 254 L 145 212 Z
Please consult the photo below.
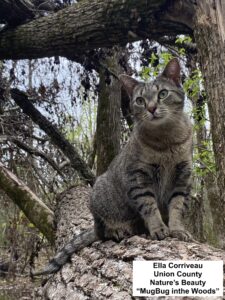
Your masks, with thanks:
M 122 73 L 118 61 L 119 49 L 107 55 L 103 62 L 106 68 L 116 74 Z M 100 83 L 97 112 L 97 175 L 104 173 L 120 150 L 120 107 L 121 91 L 118 80 L 109 74 L 106 68 L 100 68 Z

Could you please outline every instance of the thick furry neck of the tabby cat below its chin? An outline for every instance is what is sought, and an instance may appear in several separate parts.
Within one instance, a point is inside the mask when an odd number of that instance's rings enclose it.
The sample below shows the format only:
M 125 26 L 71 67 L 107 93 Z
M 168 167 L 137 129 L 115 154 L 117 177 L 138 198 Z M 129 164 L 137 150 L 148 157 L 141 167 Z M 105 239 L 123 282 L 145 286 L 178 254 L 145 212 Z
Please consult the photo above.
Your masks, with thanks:
M 191 139 L 192 125 L 186 115 L 165 124 L 142 123 L 134 127 L 134 140 L 155 150 L 166 150 Z

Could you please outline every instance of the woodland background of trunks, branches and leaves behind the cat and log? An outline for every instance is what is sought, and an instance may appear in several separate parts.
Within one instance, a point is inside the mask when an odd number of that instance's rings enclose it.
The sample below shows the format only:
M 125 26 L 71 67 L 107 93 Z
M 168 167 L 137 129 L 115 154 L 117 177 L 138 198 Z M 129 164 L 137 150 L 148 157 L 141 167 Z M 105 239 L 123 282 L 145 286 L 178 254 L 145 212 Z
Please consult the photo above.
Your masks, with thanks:
M 181 62 L 185 109 L 194 125 L 186 222 L 199 242 L 224 249 L 222 0 L 2 0 L 0 26 L 0 276 L 9 280 L 0 286 L 17 276 L 20 288 L 30 268 L 52 255 L 55 237 L 61 244 L 76 226 L 85 228 L 81 220 L 90 217 L 85 209 L 86 217 L 76 215 L 78 198 L 87 197 L 132 131 L 117 75 L 151 80 L 171 57 Z M 82 186 L 79 197 L 74 185 Z M 63 206 L 68 195 L 76 201 Z M 59 225 L 61 211 L 67 225 Z M 131 241 L 131 248 L 137 244 Z M 99 247 L 104 253 L 108 246 Z M 25 286 L 30 294 L 33 283 Z M 91 292 L 80 289 L 79 299 L 89 299 Z M 130 295 L 121 289 L 121 299 Z M 96 299 L 114 299 L 113 288 L 100 294 Z

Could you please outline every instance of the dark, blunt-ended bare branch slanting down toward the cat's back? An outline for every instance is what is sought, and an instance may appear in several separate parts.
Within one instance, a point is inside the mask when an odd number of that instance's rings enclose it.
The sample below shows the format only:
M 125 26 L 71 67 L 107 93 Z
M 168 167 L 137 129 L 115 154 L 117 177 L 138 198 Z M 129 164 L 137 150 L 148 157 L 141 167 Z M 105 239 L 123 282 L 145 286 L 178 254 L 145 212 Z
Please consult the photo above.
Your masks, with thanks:
M 95 176 L 80 157 L 79 153 L 70 142 L 63 137 L 59 130 L 34 107 L 27 95 L 18 89 L 12 89 L 11 96 L 16 104 L 22 108 L 23 112 L 38 124 L 39 127 L 49 135 L 52 143 L 61 149 L 69 158 L 72 167 L 79 173 L 81 178 L 93 185 Z

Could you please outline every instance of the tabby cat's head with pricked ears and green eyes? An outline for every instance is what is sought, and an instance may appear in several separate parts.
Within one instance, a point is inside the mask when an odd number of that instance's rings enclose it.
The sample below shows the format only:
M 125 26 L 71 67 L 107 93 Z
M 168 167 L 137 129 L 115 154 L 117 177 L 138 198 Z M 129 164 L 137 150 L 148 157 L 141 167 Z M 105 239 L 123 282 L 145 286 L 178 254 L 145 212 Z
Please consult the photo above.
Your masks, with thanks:
M 154 125 L 176 121 L 184 107 L 184 92 L 180 85 L 180 65 L 170 60 L 164 71 L 152 82 L 144 83 L 127 75 L 120 81 L 130 97 L 131 112 L 136 121 Z

